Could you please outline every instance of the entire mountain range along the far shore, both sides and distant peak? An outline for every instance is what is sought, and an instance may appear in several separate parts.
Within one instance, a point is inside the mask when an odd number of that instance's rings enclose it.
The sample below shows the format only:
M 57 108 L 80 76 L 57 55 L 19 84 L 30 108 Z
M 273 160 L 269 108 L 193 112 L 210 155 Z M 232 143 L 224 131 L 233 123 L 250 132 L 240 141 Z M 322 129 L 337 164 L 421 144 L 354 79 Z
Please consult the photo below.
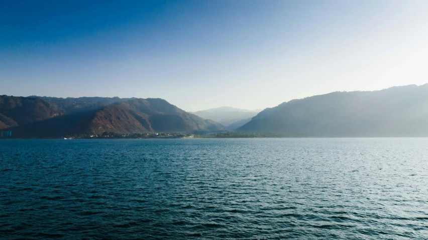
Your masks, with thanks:
M 0 96 L 0 129 L 13 137 L 237 131 L 294 137 L 428 136 L 428 84 L 381 91 L 333 92 L 243 110 L 194 114 L 159 98 Z

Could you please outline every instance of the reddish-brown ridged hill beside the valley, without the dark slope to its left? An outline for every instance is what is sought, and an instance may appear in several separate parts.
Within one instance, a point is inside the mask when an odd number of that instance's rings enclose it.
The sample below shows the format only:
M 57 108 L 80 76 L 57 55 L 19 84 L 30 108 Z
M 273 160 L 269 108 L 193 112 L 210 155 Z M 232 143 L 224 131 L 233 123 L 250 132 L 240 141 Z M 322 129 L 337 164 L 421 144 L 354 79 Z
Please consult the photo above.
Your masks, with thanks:
M 117 133 L 221 130 L 223 126 L 187 113 L 160 98 L 134 99 L 97 111 L 90 131 Z

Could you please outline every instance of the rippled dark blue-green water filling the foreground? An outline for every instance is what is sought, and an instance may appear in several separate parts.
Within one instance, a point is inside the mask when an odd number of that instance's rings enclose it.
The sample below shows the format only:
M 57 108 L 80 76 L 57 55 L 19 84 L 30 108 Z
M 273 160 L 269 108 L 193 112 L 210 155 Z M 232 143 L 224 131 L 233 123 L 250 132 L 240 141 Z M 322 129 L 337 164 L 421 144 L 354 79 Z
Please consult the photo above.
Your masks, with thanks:
M 428 239 L 428 139 L 0 141 L 0 238 Z

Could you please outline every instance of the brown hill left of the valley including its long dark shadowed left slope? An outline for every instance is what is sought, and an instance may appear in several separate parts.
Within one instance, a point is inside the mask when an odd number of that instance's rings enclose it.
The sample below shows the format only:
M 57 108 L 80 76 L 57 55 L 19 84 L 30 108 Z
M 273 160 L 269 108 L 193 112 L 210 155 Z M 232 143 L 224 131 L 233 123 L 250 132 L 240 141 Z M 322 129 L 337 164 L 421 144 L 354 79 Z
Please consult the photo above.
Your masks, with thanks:
M 163 99 L 133 99 L 100 109 L 10 128 L 15 137 L 61 137 L 79 134 L 217 131 L 223 126 L 187 113 Z

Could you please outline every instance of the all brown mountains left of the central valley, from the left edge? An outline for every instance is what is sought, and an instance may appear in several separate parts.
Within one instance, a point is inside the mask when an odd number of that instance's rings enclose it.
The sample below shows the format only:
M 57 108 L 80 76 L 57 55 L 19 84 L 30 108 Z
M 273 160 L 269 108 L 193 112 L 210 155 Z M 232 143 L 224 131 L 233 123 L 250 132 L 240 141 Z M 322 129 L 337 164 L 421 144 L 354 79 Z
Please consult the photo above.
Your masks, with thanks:
M 0 97 L 0 129 L 14 137 L 218 131 L 224 127 L 163 99 Z

